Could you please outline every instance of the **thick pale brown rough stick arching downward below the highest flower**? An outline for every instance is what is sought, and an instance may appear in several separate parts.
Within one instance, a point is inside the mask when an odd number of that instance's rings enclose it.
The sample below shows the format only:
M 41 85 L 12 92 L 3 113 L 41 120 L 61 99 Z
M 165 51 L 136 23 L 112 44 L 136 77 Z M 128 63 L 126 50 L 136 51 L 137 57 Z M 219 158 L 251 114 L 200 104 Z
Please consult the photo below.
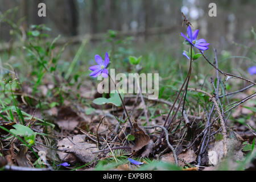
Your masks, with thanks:
M 201 92 L 203 94 L 206 94 L 207 96 L 210 97 L 210 100 L 212 100 L 214 105 L 216 106 L 216 110 L 217 110 L 217 113 L 219 115 L 218 118 L 220 118 L 221 127 L 223 129 L 222 130 L 222 135 L 223 135 L 223 143 L 224 143 L 224 156 L 226 156 L 226 154 L 228 153 L 227 146 L 226 146 L 227 145 L 227 143 L 226 143 L 226 135 L 227 135 L 226 125 L 225 125 L 225 122 L 224 122 L 224 118 L 222 117 L 220 107 L 218 106 L 218 103 L 216 101 L 216 98 L 212 94 L 209 94 L 208 92 L 205 92 L 204 90 L 193 89 L 193 88 L 188 88 L 188 90 L 195 91 L 195 92 Z

